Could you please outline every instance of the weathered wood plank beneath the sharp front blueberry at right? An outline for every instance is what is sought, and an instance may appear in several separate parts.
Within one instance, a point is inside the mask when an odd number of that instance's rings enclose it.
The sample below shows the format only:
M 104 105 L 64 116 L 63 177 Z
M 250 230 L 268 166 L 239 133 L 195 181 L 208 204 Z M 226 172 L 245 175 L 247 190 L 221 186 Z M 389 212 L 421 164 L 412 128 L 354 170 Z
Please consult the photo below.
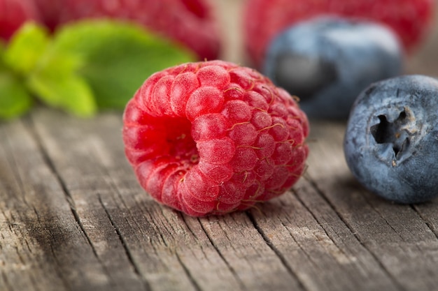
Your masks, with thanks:
M 358 185 L 340 158 L 343 135 L 344 124 L 313 126 L 318 140 L 309 159 L 312 183 L 400 288 L 436 290 L 438 239 L 430 228 L 433 222 L 418 213 L 421 206 L 394 204 Z M 432 221 L 438 201 L 428 207 Z

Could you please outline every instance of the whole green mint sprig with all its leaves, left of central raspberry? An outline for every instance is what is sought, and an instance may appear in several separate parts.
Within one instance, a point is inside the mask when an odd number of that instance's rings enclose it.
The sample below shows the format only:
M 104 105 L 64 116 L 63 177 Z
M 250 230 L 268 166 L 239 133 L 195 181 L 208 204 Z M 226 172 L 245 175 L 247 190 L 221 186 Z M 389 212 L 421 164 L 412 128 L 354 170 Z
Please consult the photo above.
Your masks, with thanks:
M 0 118 L 29 110 L 31 97 L 80 117 L 123 109 L 151 74 L 195 59 L 136 24 L 82 20 L 52 36 L 27 23 L 0 42 Z

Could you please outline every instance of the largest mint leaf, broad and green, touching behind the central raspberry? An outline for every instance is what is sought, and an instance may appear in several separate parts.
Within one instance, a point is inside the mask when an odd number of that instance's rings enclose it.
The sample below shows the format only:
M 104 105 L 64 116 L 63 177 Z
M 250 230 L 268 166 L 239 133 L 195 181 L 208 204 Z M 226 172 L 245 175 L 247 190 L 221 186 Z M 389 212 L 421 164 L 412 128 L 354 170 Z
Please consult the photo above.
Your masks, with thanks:
M 147 77 L 195 61 L 195 54 L 143 27 L 111 20 L 83 20 L 57 32 L 54 50 L 82 60 L 85 78 L 101 108 L 125 107 Z

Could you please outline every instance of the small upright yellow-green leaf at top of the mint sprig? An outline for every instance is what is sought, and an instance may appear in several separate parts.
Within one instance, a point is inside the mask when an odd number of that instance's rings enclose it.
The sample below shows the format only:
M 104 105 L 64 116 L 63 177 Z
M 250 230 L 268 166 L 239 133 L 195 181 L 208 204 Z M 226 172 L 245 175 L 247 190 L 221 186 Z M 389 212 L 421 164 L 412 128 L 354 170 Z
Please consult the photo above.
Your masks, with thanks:
M 35 68 L 49 42 L 48 31 L 38 24 L 27 22 L 10 40 L 3 53 L 3 61 L 15 72 L 27 75 Z

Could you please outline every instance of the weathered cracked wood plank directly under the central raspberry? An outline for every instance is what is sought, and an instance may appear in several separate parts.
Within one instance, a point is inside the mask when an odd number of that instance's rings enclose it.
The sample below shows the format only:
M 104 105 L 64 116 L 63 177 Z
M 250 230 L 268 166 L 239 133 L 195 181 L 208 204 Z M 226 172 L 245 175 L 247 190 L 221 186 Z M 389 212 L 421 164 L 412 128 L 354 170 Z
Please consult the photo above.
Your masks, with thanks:
M 59 122 L 53 123 L 54 119 Z M 246 219 L 229 218 L 222 225 L 225 218 L 217 218 L 214 223 L 214 218 L 209 218 L 207 223 L 207 218 L 181 216 L 153 202 L 134 180 L 125 161 L 121 123 L 115 115 L 102 115 L 88 122 L 57 118 L 41 110 L 35 120 L 43 148 L 73 200 L 97 257 L 107 269 L 113 263 L 104 257 L 108 247 L 104 241 L 108 244 L 111 234 L 102 225 L 105 220 L 116 230 L 136 272 L 153 290 L 218 289 L 224 284 L 233 290 L 298 286 L 245 214 L 240 216 Z M 216 262 L 213 270 L 204 262 L 206 259 Z M 266 273 L 269 276 L 263 276 Z M 260 274 L 257 281 L 255 274 Z

